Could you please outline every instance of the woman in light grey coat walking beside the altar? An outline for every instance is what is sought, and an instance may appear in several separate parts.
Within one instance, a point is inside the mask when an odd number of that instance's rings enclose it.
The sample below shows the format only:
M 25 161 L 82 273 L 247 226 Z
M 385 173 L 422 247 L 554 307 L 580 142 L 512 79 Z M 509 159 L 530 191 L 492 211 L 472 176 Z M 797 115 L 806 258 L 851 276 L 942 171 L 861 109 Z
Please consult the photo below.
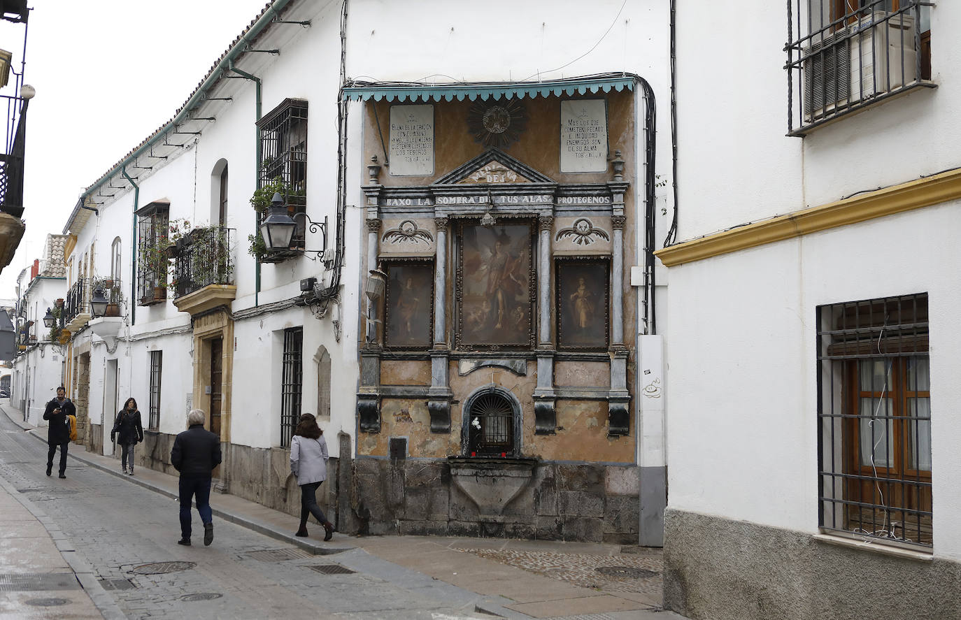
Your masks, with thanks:
M 301 488 L 301 526 L 295 536 L 307 536 L 307 518 L 313 516 L 324 526 L 324 540 L 333 537 L 333 524 L 317 506 L 317 488 L 327 478 L 327 441 L 317 419 L 304 414 L 290 441 L 290 471 Z

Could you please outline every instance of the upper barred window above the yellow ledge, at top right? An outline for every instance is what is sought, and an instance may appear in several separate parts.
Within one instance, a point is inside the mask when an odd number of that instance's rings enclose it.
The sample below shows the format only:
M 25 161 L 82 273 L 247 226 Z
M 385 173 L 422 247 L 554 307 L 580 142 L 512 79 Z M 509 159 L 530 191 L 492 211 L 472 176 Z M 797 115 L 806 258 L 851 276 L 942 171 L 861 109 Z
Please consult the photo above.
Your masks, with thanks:
M 788 1 L 788 135 L 931 79 L 930 2 Z M 794 107 L 797 106 L 797 109 Z

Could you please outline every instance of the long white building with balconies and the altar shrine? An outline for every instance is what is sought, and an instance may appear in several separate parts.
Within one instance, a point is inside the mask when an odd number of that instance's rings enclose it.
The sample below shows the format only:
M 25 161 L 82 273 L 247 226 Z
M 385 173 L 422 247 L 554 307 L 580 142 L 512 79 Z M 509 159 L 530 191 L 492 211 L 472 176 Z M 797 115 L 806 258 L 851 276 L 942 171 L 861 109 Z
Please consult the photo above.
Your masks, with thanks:
M 488 9 L 510 15 L 494 37 L 446 2 L 276 0 L 173 119 L 87 188 L 63 229 L 71 240 L 64 372 L 79 441 L 110 454 L 112 418 L 133 396 L 146 435 L 138 462 L 172 471 L 172 440 L 199 407 L 224 446 L 217 488 L 297 512 L 287 446 L 297 417 L 314 413 L 339 463 L 326 499 L 342 531 L 660 544 L 665 385 L 654 317 L 666 304 L 655 295 L 664 287 L 655 290 L 652 252 L 670 227 L 668 190 L 654 182 L 670 169 L 669 145 L 656 139 L 670 133 L 668 13 L 658 3 L 613 0 L 589 11 L 573 2 Z M 582 42 L 577 53 L 572 40 Z M 384 98 L 382 89 L 396 85 L 407 94 Z M 421 99 L 407 100 L 410 92 Z M 513 151 L 510 142 L 489 141 L 504 132 L 484 120 L 489 114 L 475 119 L 480 130 L 464 115 L 475 100 L 496 114 L 493 104 L 511 98 L 532 111 L 527 131 L 515 124 L 508 132 L 516 134 Z M 561 115 L 580 100 L 591 102 L 587 120 L 604 128 L 590 138 L 598 142 L 589 165 L 572 163 L 560 144 Z M 659 113 L 655 101 L 664 102 Z M 430 153 L 389 120 L 410 104 L 419 113 L 431 108 L 417 130 L 429 129 Z M 510 109 L 508 116 L 517 108 Z M 574 153 L 579 138 L 568 133 Z M 503 169 L 488 174 L 491 166 Z M 275 192 L 278 214 L 297 225 L 281 250 L 259 236 Z M 407 215 L 404 201 L 417 192 L 420 210 Z M 524 206 L 532 197 L 536 206 Z M 470 204 L 484 198 L 502 234 L 509 221 L 535 240 L 523 274 L 530 294 L 521 287 L 499 306 L 506 313 L 511 304 L 524 339 L 457 346 L 464 339 L 456 319 L 467 315 L 455 249 L 465 223 L 480 226 L 486 211 Z M 417 238 L 426 230 L 430 252 L 390 250 L 413 239 L 417 226 L 427 227 Z M 407 266 L 436 269 L 428 278 L 436 297 L 409 313 L 435 328 L 431 342 L 384 342 L 397 327 L 397 306 L 368 288 L 383 261 L 388 298 Z M 576 283 L 571 261 L 609 280 L 596 301 L 578 306 L 581 330 L 597 308 L 585 346 L 560 336 L 570 320 L 562 308 L 571 305 L 560 288 L 570 284 L 555 278 L 570 273 Z M 96 316 L 100 300 L 116 309 Z M 556 384 L 555 369 L 566 377 Z M 514 407 L 510 447 L 485 449 L 507 469 L 526 471 L 510 498 L 515 506 L 475 514 L 476 498 L 463 487 L 445 486 L 444 497 L 427 479 L 388 487 L 383 481 L 406 480 L 408 457 L 438 471 L 448 457 L 467 459 L 461 469 L 474 466 L 471 416 L 461 406 L 479 390 Z M 392 473 L 381 475 L 384 467 Z M 560 480 L 565 475 L 570 480 Z M 513 469 L 505 476 L 516 478 Z M 358 489 L 355 479 L 384 486 Z M 408 491 L 420 498 L 409 507 L 391 499 Z M 452 499 L 461 492 L 467 497 Z M 455 514 L 458 501 L 475 513 Z

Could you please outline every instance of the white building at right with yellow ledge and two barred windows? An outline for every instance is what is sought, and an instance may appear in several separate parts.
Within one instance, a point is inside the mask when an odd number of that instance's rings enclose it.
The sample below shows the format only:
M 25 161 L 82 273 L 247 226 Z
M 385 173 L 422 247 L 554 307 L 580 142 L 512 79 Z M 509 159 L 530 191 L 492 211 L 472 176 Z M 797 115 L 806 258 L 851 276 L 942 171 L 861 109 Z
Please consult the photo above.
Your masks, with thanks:
M 961 12 L 788 5 L 678 7 L 665 604 L 959 617 Z

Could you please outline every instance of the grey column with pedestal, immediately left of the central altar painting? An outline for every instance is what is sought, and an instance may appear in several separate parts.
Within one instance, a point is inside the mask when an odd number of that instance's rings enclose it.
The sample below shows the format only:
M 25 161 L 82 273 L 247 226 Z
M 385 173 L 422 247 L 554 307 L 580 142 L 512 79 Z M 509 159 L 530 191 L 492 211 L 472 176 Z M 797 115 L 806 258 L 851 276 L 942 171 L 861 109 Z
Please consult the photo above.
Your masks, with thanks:
M 431 433 L 451 432 L 451 386 L 447 346 L 447 225 L 448 218 L 434 218 L 437 225 L 437 253 L 433 275 L 433 348 L 431 349 L 431 389 L 427 410 L 431 414 Z

